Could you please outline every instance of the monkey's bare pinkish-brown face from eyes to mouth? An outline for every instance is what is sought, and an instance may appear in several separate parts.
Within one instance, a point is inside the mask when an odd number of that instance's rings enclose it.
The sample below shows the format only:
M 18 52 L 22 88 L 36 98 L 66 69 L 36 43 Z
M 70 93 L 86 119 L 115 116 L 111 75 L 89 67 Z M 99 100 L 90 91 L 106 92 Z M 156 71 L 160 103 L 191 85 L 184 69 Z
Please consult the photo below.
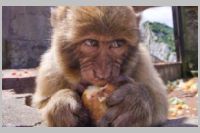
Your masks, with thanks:
M 82 78 L 92 84 L 103 86 L 119 76 L 128 44 L 123 39 L 100 38 L 86 39 L 80 44 L 82 56 L 79 61 Z

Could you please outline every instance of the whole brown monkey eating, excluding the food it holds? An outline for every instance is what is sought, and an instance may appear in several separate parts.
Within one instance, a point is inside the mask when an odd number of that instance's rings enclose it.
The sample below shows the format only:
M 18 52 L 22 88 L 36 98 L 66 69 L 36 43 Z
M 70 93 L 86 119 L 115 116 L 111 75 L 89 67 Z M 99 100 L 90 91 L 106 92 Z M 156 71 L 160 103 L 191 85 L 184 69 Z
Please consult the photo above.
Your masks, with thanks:
M 135 9 L 135 10 L 134 10 Z M 166 121 L 165 86 L 139 43 L 137 7 L 57 7 L 52 44 L 42 56 L 34 105 L 48 126 L 157 126 Z M 112 84 L 94 123 L 81 99 Z

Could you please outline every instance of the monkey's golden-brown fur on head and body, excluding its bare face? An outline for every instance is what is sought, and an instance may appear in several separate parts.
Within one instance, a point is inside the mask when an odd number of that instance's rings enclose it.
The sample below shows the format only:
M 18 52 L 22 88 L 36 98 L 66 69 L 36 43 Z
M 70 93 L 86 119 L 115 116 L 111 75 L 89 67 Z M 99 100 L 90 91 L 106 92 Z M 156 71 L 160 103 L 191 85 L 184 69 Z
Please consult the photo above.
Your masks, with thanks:
M 118 37 L 126 39 L 129 47 L 122 50 L 126 58 L 120 59 L 120 73 L 134 80 L 119 85 L 123 89 L 118 91 L 123 92 L 116 91 L 113 95 L 119 93 L 123 104 L 111 107 L 97 126 L 109 126 L 108 120 L 112 120 L 111 126 L 152 126 L 166 121 L 165 86 L 148 51 L 138 43 L 138 22 L 131 7 L 58 7 L 52 10 L 51 24 L 52 45 L 42 56 L 33 97 L 48 126 L 86 126 L 90 120 L 76 90 L 83 79 L 80 58 L 86 56 L 81 55 L 79 44 L 87 38 L 102 42 Z M 115 58 L 121 57 L 116 54 Z M 103 55 L 97 57 L 100 62 L 105 59 Z M 97 65 L 103 71 L 102 67 Z M 125 95 L 128 93 L 124 90 L 132 95 Z M 113 97 L 110 103 L 120 101 Z M 127 111 L 123 109 L 130 112 L 116 118 L 116 112 Z

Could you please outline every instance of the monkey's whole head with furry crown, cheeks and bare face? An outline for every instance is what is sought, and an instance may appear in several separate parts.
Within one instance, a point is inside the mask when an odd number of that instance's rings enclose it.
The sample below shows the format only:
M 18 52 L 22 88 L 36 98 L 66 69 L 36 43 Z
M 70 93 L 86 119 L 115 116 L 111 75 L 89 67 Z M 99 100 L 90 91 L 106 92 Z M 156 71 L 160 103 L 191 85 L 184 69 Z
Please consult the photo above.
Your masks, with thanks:
M 132 7 L 59 7 L 51 22 L 64 69 L 94 85 L 123 74 L 139 41 Z

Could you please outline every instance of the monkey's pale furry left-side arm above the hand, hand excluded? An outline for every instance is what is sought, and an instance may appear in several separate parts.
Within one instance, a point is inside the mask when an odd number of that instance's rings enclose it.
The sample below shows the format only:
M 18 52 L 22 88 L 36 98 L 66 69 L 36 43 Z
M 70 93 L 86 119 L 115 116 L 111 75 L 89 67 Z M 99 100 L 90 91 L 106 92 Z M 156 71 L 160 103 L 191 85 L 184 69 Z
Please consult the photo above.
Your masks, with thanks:
M 52 59 L 52 51 L 47 51 L 41 58 L 36 77 L 36 89 L 33 95 L 33 106 L 43 108 L 50 97 L 57 91 L 67 88 L 64 77 L 58 72 Z

